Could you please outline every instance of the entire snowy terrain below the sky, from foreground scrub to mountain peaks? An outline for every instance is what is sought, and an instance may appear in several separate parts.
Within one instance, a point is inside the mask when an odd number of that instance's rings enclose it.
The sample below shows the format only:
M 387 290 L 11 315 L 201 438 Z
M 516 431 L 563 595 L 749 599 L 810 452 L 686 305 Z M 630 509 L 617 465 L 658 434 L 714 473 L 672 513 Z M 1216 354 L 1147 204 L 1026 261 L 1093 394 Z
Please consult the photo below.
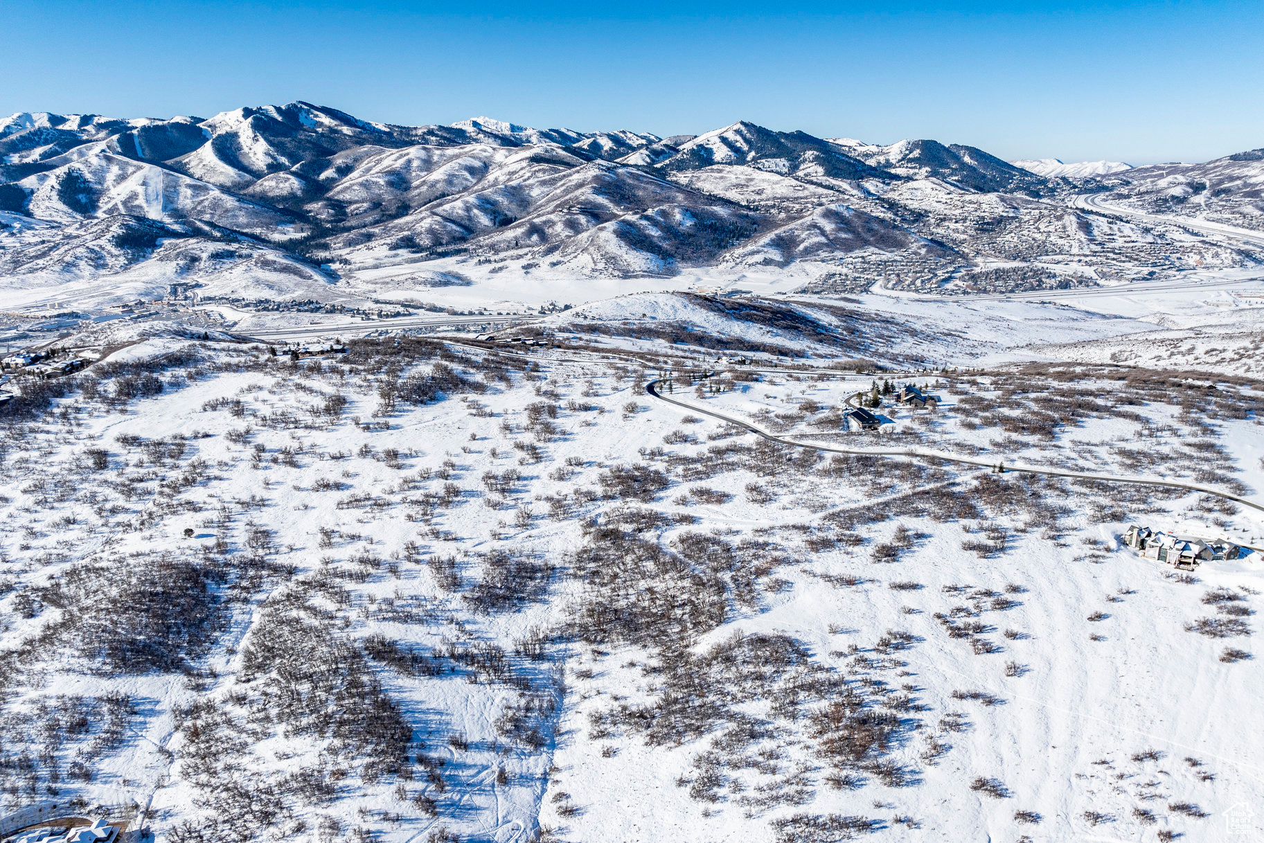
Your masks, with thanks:
M 0 119 L 0 842 L 1264 838 L 1261 168 Z

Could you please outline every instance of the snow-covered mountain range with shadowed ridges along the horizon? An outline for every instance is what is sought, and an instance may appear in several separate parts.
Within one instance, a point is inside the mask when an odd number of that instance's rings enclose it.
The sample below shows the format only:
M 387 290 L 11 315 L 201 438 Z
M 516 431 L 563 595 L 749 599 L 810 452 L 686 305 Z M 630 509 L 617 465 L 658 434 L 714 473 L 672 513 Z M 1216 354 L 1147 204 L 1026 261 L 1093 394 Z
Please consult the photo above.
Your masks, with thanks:
M 1208 207 L 1254 212 L 1259 161 L 1201 167 L 1101 183 L 1172 207 L 1201 191 Z M 1255 259 L 1068 209 L 1072 185 L 968 145 L 747 121 L 660 138 L 485 116 L 401 126 L 310 102 L 209 119 L 16 114 L 0 120 L 0 289 L 62 301 L 32 291 L 96 278 L 80 289 L 159 294 L 174 262 L 182 283 L 244 298 L 364 302 L 418 263 L 475 283 L 507 270 L 502 281 L 536 283 L 541 267 L 571 279 L 777 267 L 836 292 L 878 281 L 943 292 L 962 278 L 977 288 L 996 260 L 1024 264 L 1005 270 L 1014 284 L 1043 287 Z M 239 258 L 192 259 L 204 253 Z M 51 257 L 62 254 L 78 257 Z

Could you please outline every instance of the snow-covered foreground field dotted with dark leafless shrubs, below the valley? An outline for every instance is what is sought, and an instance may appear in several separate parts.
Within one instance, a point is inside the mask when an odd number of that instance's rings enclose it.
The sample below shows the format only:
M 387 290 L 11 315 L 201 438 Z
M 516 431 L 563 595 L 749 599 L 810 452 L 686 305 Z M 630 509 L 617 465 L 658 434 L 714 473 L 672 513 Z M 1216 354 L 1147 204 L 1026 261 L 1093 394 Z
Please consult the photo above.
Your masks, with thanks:
M 705 412 L 1258 500 L 1232 364 L 1076 356 L 1159 348 L 1136 316 L 659 293 L 300 361 L 101 326 L 0 416 L 0 794 L 181 843 L 1250 839 L 1260 554 L 1120 536 L 1260 512 Z M 885 380 L 939 409 L 844 432 Z

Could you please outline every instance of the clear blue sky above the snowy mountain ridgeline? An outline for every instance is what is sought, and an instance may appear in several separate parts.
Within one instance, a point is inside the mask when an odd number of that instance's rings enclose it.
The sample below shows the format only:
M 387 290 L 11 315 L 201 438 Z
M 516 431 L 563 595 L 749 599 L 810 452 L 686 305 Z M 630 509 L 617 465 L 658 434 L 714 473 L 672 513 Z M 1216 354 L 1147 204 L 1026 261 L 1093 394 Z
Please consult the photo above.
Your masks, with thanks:
M 1264 4 L 0 0 L 0 112 L 308 100 L 387 123 L 744 119 L 1005 158 L 1264 147 Z

